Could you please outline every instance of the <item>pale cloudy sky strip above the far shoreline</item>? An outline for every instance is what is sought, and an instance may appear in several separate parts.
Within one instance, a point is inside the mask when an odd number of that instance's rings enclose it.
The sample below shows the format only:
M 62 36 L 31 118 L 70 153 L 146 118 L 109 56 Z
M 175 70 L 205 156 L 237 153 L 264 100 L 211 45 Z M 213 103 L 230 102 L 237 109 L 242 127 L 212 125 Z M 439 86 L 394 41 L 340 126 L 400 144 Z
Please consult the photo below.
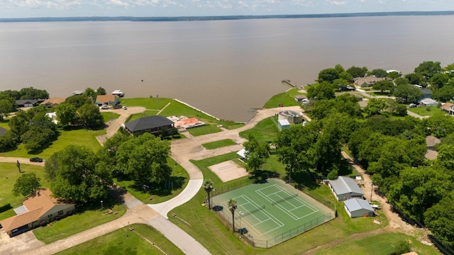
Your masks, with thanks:
M 454 11 L 453 0 L 0 0 L 0 18 Z

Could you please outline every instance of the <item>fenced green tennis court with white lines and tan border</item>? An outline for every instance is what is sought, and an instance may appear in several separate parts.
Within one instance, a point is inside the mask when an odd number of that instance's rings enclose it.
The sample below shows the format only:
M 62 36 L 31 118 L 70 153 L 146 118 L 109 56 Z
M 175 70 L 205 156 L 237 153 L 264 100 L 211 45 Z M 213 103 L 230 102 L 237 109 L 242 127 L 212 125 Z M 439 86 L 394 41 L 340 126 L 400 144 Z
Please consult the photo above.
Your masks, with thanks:
M 228 200 L 235 199 L 235 229 L 254 246 L 270 247 L 334 218 L 334 212 L 279 179 L 254 183 L 212 198 L 230 225 Z

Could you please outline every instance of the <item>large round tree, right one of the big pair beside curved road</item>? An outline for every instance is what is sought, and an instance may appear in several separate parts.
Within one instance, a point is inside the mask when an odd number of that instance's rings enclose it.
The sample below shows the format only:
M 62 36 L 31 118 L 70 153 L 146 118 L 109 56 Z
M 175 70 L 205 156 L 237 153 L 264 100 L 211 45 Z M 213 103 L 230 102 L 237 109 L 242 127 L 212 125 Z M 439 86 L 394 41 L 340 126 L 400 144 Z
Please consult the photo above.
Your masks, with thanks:
M 115 170 L 133 179 L 138 185 L 162 183 L 172 174 L 167 165 L 170 142 L 144 133 L 126 140 L 116 150 Z

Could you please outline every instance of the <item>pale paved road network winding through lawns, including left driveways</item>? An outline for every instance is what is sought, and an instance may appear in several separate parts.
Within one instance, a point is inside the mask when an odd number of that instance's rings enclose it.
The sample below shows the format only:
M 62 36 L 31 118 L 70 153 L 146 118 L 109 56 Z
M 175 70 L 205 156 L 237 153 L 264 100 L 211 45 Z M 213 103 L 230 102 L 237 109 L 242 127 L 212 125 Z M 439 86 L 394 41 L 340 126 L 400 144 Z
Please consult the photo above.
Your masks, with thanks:
M 121 123 L 124 123 L 129 115 L 133 113 L 142 113 L 146 109 L 143 107 L 131 107 L 128 110 L 116 109 L 109 110 L 114 113 L 121 114 L 120 118 L 109 121 L 106 135 L 96 137 L 101 145 L 104 144 L 106 138 L 111 137 L 115 134 L 116 130 L 120 127 Z M 175 198 L 167 200 L 166 202 L 155 204 L 155 205 L 143 205 L 140 200 L 137 200 L 130 194 L 126 193 L 124 200 L 125 204 L 128 207 L 128 211 L 125 215 L 120 217 L 117 220 L 112 222 L 107 222 L 103 225 L 99 225 L 92 229 L 87 229 L 84 232 L 79 234 L 74 234 L 71 237 L 53 242 L 52 244 L 43 244 L 36 239 L 31 238 L 31 232 L 21 234 L 18 237 L 9 239 L 9 241 L 18 241 L 23 245 L 18 245 L 14 242 L 4 242 L 4 238 L 0 238 L 0 253 L 9 252 L 9 254 L 54 254 L 58 251 L 68 249 L 77 244 L 82 244 L 87 242 L 90 239 L 94 239 L 103 234 L 113 232 L 116 229 L 121 227 L 126 227 L 131 223 L 146 223 L 158 229 L 162 234 L 167 237 L 172 243 L 182 249 L 185 254 L 210 254 L 208 250 L 201 246 L 194 238 L 189 236 L 182 229 L 174 225 L 172 222 L 167 220 L 167 214 L 173 208 L 176 208 L 179 205 L 182 205 L 189 201 L 196 193 L 200 190 L 203 183 L 203 174 L 201 171 L 194 166 L 189 159 L 205 159 L 208 157 L 214 157 L 221 154 L 226 154 L 228 152 L 238 151 L 243 148 L 242 144 L 245 142 L 245 139 L 239 136 L 239 132 L 243 130 L 248 130 L 253 128 L 260 120 L 269 118 L 280 111 L 292 110 L 292 111 L 301 111 L 299 106 L 292 107 L 282 107 L 282 108 L 271 108 L 271 109 L 262 109 L 258 110 L 254 118 L 250 120 L 249 123 L 244 125 L 241 128 L 236 130 L 223 130 L 222 132 L 202 135 L 199 137 L 189 136 L 186 139 L 175 140 L 171 144 L 172 148 L 172 158 L 182 165 L 184 169 L 189 173 L 189 183 L 184 191 L 180 193 Z M 306 115 L 304 117 L 310 120 Z M 218 149 L 205 149 L 201 145 L 206 142 L 214 142 L 223 139 L 231 139 L 236 142 L 236 145 L 221 147 Z M 16 161 L 24 164 L 38 164 L 44 165 L 44 163 L 33 163 L 29 162 L 28 159 L 23 158 L 14 158 L 14 157 L 0 157 L 0 162 L 9 162 L 16 163 Z M 32 234 L 33 235 L 33 234 Z M 26 238 L 26 241 L 21 240 L 20 238 Z M 13 243 L 13 244 L 11 244 Z

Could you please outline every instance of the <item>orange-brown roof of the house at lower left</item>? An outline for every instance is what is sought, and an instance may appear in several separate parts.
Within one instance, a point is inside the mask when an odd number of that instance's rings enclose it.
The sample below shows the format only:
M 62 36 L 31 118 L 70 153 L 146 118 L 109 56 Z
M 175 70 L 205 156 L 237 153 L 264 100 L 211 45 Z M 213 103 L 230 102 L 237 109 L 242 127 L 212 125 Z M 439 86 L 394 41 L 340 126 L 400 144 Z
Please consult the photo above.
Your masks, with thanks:
M 33 196 L 28 196 L 28 198 L 22 202 L 23 208 L 26 208 L 27 211 L 20 215 L 9 217 L 6 220 L 1 220 L 1 226 L 5 231 L 11 231 L 39 220 L 41 216 L 55 205 L 65 205 L 65 203 L 60 203 L 56 198 L 52 198 L 51 194 L 52 193 L 48 189 L 39 189 Z

